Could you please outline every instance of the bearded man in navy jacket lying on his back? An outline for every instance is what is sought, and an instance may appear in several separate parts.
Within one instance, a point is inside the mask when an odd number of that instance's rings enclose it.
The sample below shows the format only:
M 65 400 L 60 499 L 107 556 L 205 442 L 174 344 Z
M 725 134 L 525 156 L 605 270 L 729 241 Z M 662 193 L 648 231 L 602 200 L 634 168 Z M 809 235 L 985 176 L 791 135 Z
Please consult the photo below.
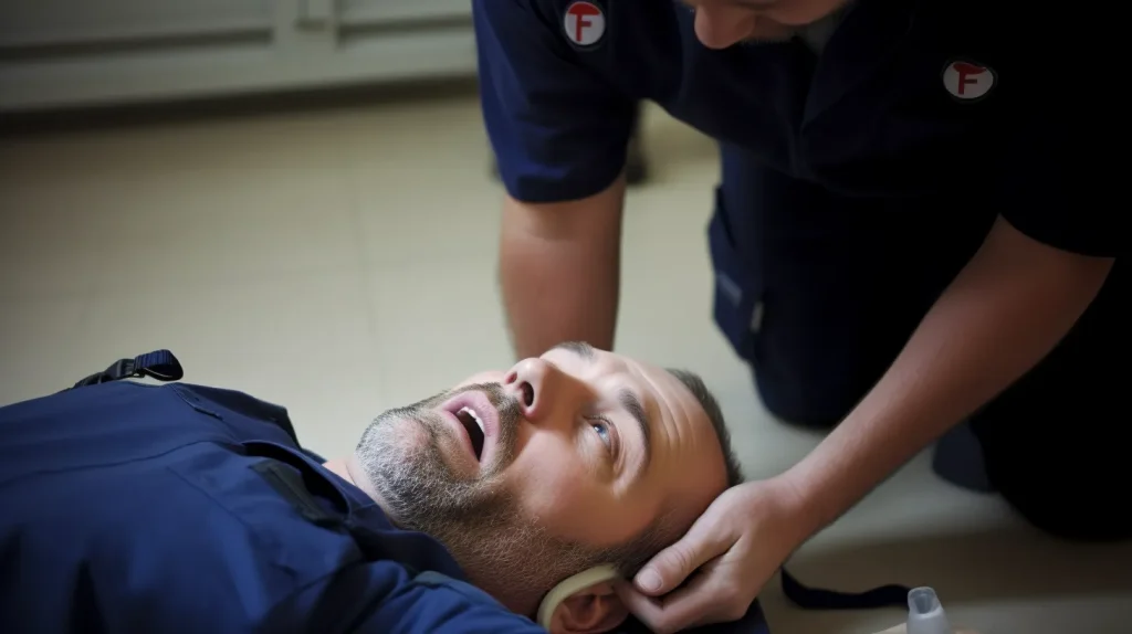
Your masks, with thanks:
M 632 575 L 740 479 L 698 379 L 584 345 L 386 411 L 349 458 L 288 429 L 187 383 L 0 408 L 0 629 L 540 632 L 551 588 Z M 551 629 L 626 614 L 595 583 Z

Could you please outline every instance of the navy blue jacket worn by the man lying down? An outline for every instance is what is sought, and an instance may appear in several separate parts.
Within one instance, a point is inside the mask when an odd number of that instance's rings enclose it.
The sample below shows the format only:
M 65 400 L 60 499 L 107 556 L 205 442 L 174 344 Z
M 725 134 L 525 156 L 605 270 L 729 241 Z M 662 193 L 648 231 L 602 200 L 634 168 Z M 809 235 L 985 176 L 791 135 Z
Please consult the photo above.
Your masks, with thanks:
M 284 425 L 183 383 L 0 408 L 0 631 L 543 632 Z

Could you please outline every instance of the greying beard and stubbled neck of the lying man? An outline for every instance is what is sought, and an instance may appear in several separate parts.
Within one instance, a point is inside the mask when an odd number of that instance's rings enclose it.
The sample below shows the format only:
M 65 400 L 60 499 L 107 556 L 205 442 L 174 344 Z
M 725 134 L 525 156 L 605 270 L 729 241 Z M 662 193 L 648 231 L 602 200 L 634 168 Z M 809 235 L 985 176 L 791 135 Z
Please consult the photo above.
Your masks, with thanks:
M 444 448 L 466 449 L 437 408 L 471 390 L 491 400 L 499 425 L 492 462 L 469 479 L 445 461 Z M 355 454 L 397 526 L 439 540 L 473 584 L 525 611 L 561 579 L 599 563 L 603 553 L 549 537 L 504 486 L 501 475 L 515 460 L 522 420 L 518 401 L 498 383 L 469 385 L 381 414 L 362 434 Z

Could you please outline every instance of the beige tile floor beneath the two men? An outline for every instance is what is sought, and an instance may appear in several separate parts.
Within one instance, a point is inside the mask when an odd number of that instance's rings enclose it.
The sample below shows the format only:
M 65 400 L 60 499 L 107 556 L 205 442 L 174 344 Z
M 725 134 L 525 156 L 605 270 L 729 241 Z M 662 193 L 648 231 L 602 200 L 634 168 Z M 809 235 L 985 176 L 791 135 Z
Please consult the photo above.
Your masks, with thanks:
M 818 438 L 765 414 L 711 322 L 715 150 L 652 110 L 645 133 L 618 347 L 703 373 L 749 474 L 774 474 Z M 312 449 L 349 452 L 381 410 L 509 365 L 499 199 L 473 97 L 6 139 L 0 403 L 170 348 L 188 380 L 281 402 Z M 1035 535 L 927 455 L 796 559 L 812 583 L 934 585 L 984 634 L 1132 632 L 1132 548 Z M 773 584 L 764 602 L 775 633 L 902 618 L 799 611 Z

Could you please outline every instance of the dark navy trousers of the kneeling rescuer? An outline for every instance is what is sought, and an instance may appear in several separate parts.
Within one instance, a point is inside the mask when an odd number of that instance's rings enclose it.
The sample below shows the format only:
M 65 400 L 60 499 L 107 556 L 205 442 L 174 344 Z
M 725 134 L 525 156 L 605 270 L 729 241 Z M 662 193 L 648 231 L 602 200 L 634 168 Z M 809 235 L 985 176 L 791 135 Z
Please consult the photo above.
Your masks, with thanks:
M 772 414 L 830 428 L 892 364 L 996 210 L 962 191 L 842 196 L 722 147 L 709 228 L 715 321 Z M 1117 263 L 1062 344 L 969 422 L 994 487 L 1062 537 L 1132 537 L 1112 503 L 1132 486 L 1114 442 L 1129 417 L 1116 385 L 1129 358 L 1125 269 Z

